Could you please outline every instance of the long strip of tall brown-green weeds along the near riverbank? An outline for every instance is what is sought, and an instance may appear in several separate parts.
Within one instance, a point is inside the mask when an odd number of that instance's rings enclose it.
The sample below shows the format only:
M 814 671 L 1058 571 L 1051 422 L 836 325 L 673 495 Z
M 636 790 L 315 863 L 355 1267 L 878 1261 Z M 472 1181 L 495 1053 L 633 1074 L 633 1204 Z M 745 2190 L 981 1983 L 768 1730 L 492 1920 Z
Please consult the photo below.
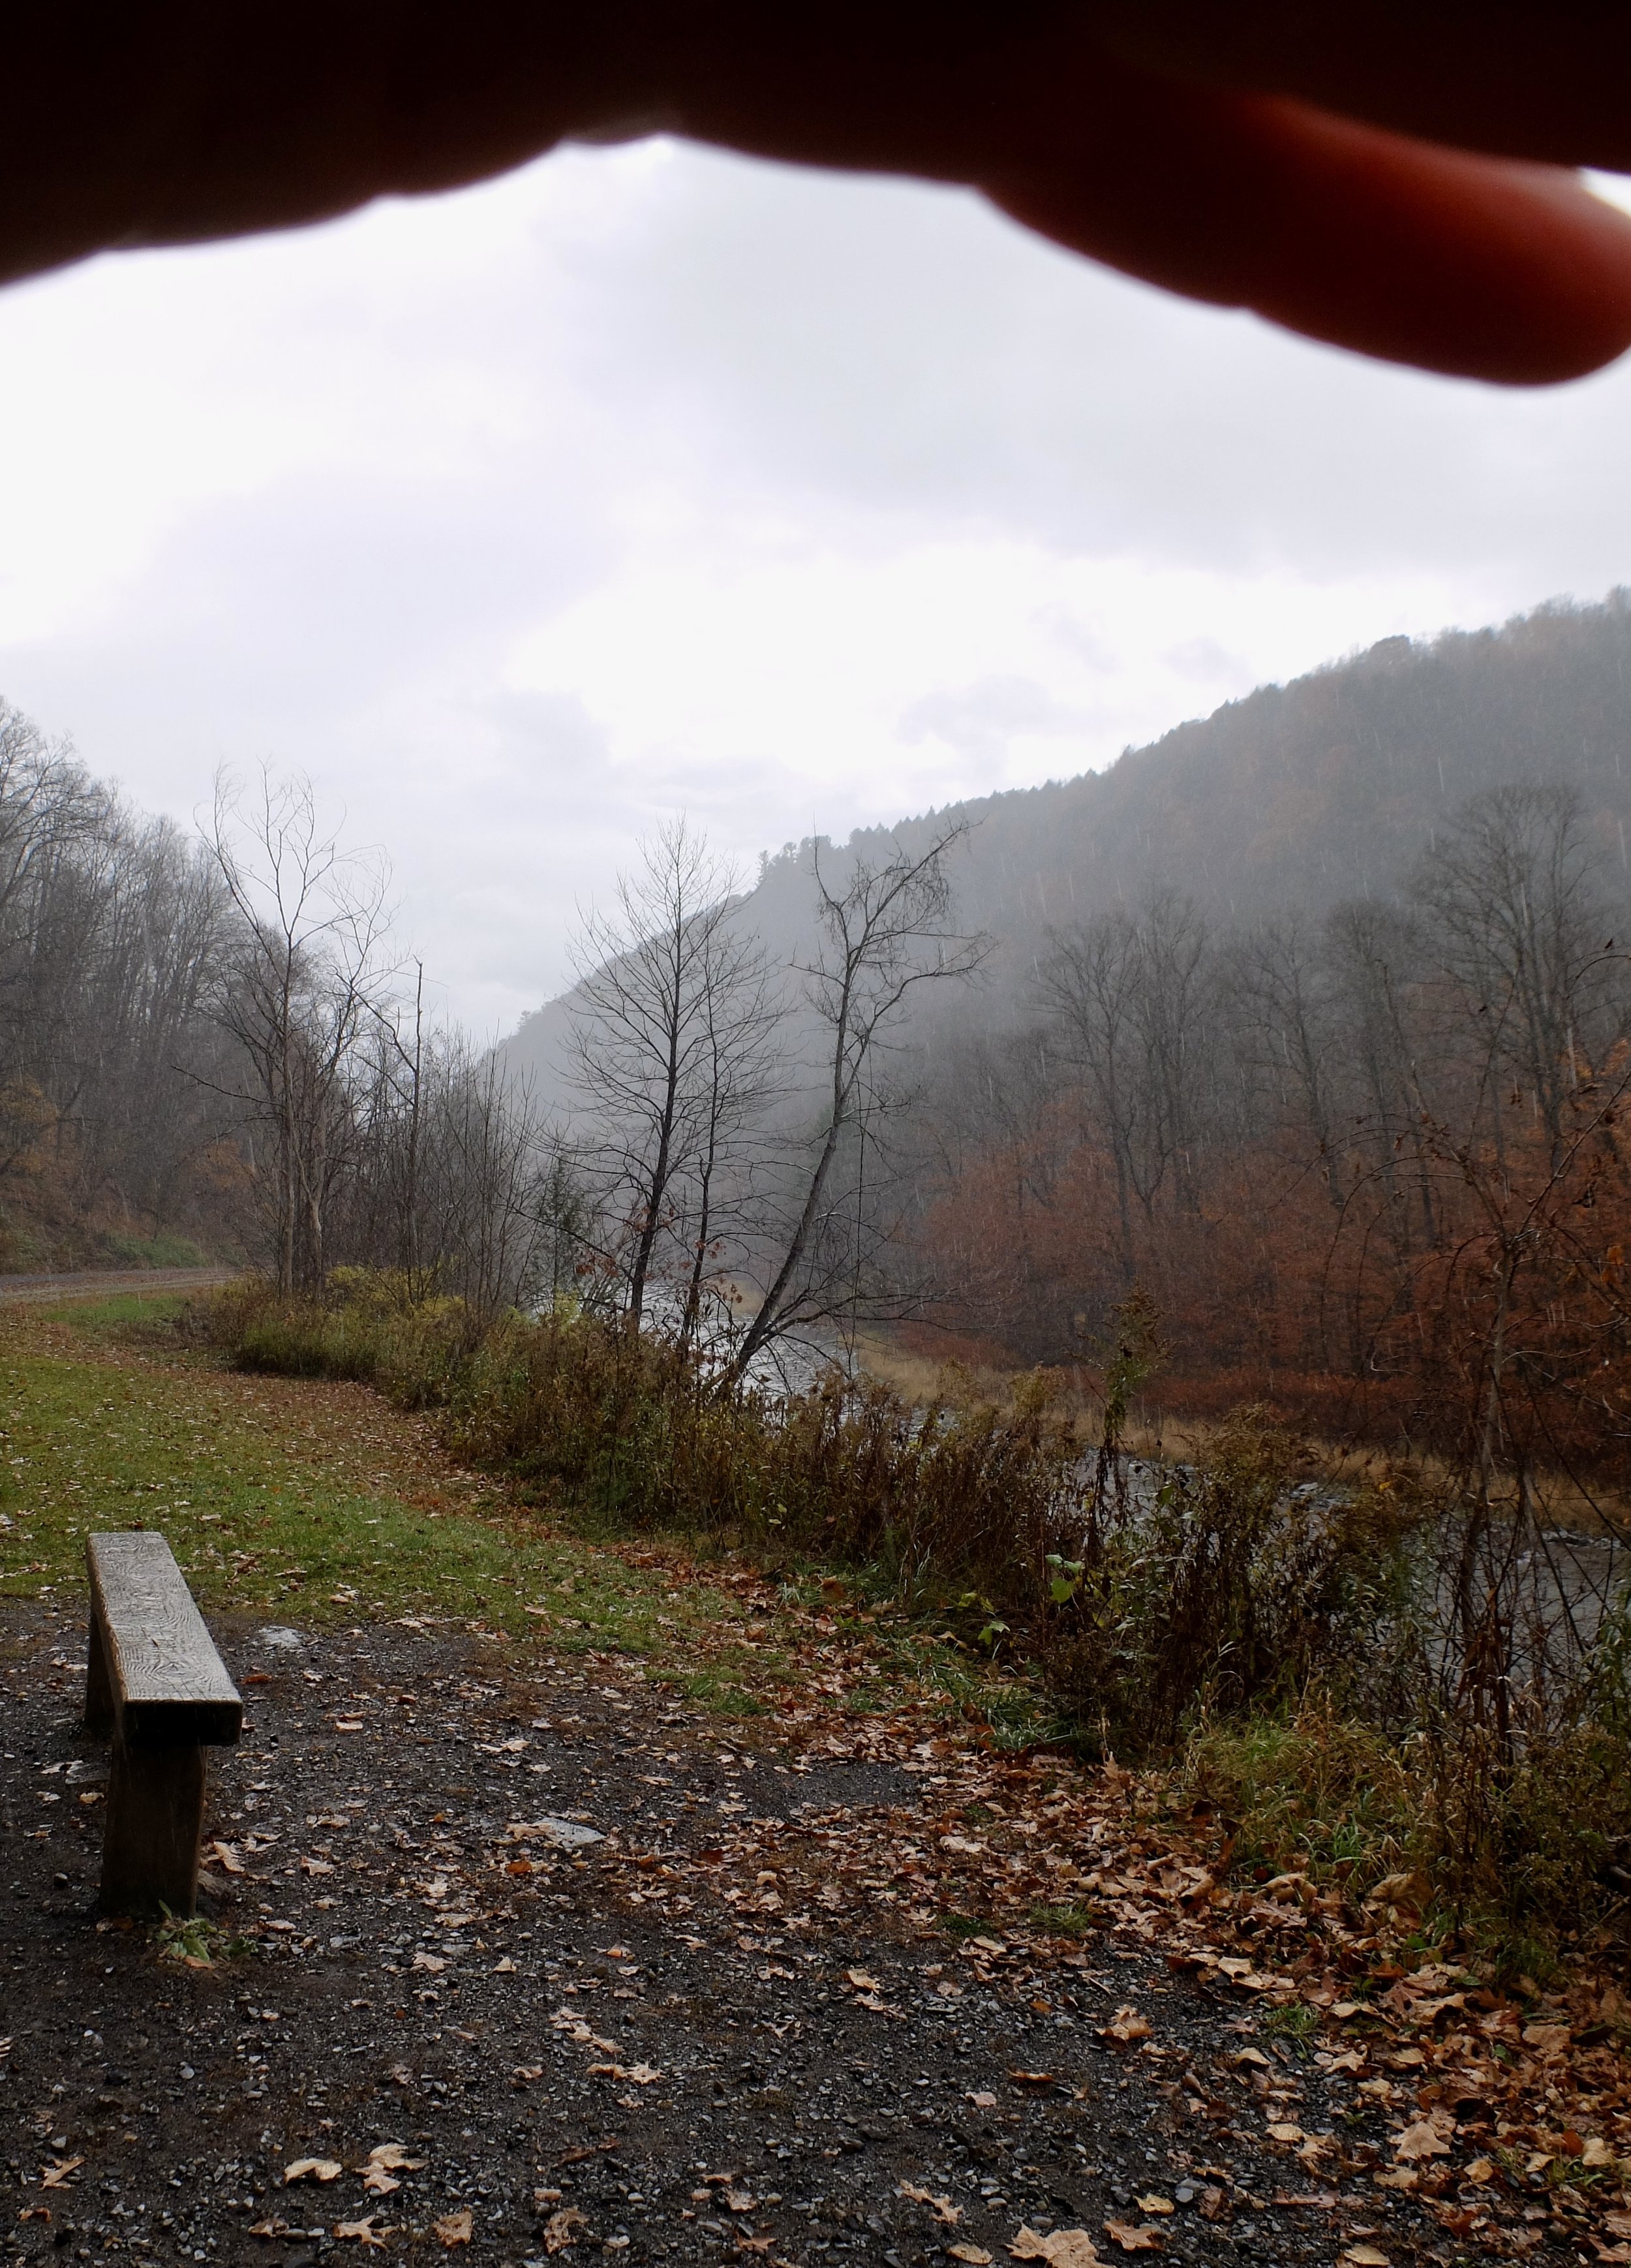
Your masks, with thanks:
M 456 1454 L 601 1533 L 869 1569 L 1023 1660 L 1084 1742 L 1205 1799 L 1241 1862 L 1359 1912 L 1393 1885 L 1406 1923 L 1536 1971 L 1626 1912 L 1631 1619 L 1558 1651 L 1536 1554 L 1443 1474 L 1334 1479 L 1245 1406 L 1130 1483 L 1114 1424 L 1084 1440 L 1041 1374 L 1000 1399 L 837 1374 L 721 1393 L 660 1338 L 581 1313 L 479 1327 L 392 1277 L 234 1290 L 209 1329 L 245 1368 L 438 1411 Z

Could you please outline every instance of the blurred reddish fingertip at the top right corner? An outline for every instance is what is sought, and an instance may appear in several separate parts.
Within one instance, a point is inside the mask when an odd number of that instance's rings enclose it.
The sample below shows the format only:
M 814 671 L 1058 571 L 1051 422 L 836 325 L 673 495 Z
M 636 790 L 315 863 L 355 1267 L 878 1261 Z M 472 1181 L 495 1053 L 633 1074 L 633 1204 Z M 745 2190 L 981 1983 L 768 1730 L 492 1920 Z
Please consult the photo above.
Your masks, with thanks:
M 1161 109 L 987 193 L 1130 274 L 1445 376 L 1554 386 L 1631 347 L 1631 218 L 1579 175 L 1268 98 Z

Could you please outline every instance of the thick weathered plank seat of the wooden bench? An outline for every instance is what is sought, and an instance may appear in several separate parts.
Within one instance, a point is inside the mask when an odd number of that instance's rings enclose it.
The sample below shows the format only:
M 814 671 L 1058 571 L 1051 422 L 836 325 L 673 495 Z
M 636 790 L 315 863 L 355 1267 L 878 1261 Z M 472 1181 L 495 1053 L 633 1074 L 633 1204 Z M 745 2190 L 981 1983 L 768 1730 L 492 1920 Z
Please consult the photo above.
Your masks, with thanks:
M 93 1649 L 107 1708 L 129 1749 L 234 1746 L 243 1701 L 163 1535 L 86 1538 Z

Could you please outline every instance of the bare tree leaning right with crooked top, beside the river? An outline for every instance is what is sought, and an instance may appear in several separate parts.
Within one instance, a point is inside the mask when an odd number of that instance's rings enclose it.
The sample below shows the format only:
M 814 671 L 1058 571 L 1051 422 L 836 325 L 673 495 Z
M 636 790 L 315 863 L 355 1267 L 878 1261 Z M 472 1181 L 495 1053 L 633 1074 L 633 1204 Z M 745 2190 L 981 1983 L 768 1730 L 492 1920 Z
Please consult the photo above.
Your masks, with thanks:
M 842 885 L 821 871 L 821 846 L 810 850 L 821 946 L 801 973 L 823 1041 L 823 1102 L 785 1232 L 767 1247 L 762 1300 L 726 1372 L 733 1381 L 771 1343 L 860 1311 L 869 1259 L 887 1243 L 887 1227 L 873 1222 L 869 1234 L 867 1159 L 880 1150 L 880 1120 L 907 1100 L 887 1077 L 901 1012 L 926 984 L 966 984 L 991 950 L 955 925 L 948 864 L 966 835 L 960 819 L 926 850 L 896 844 L 885 860 L 855 860 Z M 837 1170 L 846 1154 L 853 1186 Z

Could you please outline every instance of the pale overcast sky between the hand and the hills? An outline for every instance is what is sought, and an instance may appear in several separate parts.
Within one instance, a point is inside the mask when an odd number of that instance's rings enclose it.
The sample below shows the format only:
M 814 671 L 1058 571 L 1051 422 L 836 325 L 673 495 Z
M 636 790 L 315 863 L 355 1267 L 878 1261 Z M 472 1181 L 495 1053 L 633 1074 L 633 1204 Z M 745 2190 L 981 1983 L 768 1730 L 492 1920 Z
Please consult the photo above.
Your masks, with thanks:
M 975 197 L 647 143 L 0 297 L 0 692 L 309 771 L 490 1032 L 687 810 L 751 869 L 1631 581 L 1631 365 L 1379 370 Z

